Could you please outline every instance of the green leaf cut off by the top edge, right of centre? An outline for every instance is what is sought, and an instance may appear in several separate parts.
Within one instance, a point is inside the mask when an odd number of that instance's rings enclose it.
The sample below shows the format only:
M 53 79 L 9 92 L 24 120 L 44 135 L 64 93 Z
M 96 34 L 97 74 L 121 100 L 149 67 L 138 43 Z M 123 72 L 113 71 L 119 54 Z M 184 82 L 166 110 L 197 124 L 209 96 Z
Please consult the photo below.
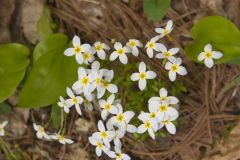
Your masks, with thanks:
M 171 0 L 144 0 L 143 9 L 153 21 L 161 20 L 170 8 Z

